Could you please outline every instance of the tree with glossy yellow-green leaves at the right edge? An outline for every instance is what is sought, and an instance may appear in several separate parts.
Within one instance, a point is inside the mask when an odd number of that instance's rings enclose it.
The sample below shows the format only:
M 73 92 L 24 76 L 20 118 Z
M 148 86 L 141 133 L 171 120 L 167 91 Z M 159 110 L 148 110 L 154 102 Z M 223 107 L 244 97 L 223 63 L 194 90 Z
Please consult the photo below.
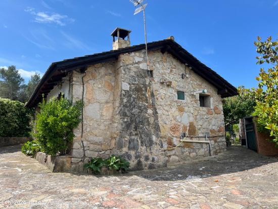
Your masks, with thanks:
M 257 64 L 270 64 L 273 67 L 260 69 L 258 88 L 252 89 L 253 98 L 256 101 L 254 115 L 257 116 L 256 122 L 259 127 L 269 131 L 270 140 L 278 147 L 278 39 L 271 40 L 271 36 L 266 41 L 255 41 L 257 53 L 261 56 Z

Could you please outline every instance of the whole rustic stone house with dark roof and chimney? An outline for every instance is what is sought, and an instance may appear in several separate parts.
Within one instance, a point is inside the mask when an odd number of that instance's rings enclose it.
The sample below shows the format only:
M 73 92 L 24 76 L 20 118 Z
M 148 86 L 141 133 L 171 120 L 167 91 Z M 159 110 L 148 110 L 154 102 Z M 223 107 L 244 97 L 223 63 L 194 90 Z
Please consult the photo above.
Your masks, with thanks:
M 130 32 L 113 31 L 112 51 L 52 63 L 26 103 L 36 107 L 42 94 L 83 100 L 71 170 L 111 154 L 153 169 L 225 151 L 221 99 L 237 89 L 172 36 L 148 43 L 148 66 L 145 45 L 130 46 Z

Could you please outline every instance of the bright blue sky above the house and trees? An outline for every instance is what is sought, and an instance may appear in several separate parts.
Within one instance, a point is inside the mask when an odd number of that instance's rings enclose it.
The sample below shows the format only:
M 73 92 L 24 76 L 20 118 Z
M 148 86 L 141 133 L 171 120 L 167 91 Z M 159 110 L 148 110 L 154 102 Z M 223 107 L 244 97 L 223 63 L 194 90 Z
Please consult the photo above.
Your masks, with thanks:
M 146 8 L 148 41 L 170 35 L 234 86 L 256 87 L 254 40 L 277 37 L 278 0 L 157 1 Z M 52 62 L 112 49 L 115 27 L 144 43 L 143 14 L 128 0 L 1 0 L 0 66 L 27 81 Z

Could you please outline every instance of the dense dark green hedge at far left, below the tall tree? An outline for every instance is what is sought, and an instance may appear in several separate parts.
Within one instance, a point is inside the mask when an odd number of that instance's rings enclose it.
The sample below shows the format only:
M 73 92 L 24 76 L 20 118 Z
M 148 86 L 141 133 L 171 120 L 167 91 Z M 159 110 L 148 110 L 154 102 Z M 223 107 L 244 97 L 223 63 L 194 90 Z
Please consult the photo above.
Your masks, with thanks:
M 0 98 L 0 136 L 28 137 L 31 111 L 19 101 Z

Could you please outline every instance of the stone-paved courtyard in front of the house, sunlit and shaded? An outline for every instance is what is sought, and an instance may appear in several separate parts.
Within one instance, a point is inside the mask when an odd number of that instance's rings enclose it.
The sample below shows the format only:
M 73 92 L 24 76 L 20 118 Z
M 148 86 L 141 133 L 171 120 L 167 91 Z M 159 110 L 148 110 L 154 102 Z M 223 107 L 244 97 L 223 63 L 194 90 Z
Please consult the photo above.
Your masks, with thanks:
M 278 208 L 278 160 L 244 147 L 125 175 L 50 173 L 0 148 L 0 208 Z

